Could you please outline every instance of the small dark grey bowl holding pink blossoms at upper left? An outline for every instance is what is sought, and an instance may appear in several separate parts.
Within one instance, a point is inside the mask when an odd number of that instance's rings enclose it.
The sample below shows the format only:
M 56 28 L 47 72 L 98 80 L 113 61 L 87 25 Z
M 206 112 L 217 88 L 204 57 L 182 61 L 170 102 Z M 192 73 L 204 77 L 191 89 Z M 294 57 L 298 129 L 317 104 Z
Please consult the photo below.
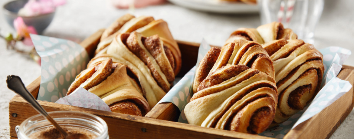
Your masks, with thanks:
M 6 21 L 12 28 L 14 28 L 13 20 L 19 17 L 17 12 L 27 3 L 27 1 L 28 0 L 15 0 L 4 5 L 3 10 Z M 54 15 L 55 11 L 39 16 L 21 17 L 27 26 L 33 26 L 37 30 L 38 34 L 42 34 L 44 29 L 46 29 L 52 22 Z

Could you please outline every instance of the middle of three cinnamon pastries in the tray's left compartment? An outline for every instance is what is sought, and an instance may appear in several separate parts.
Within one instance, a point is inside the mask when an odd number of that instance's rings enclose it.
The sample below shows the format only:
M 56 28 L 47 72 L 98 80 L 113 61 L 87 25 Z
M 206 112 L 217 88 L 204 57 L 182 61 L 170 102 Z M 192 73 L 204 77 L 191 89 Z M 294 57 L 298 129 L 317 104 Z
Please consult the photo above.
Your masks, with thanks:
M 137 32 L 119 34 L 107 54 L 96 55 L 87 66 L 107 59 L 127 66 L 129 75 L 136 79 L 135 87 L 142 90 L 150 108 L 170 90 L 170 83 L 175 79 L 173 56 L 158 35 L 145 38 Z

